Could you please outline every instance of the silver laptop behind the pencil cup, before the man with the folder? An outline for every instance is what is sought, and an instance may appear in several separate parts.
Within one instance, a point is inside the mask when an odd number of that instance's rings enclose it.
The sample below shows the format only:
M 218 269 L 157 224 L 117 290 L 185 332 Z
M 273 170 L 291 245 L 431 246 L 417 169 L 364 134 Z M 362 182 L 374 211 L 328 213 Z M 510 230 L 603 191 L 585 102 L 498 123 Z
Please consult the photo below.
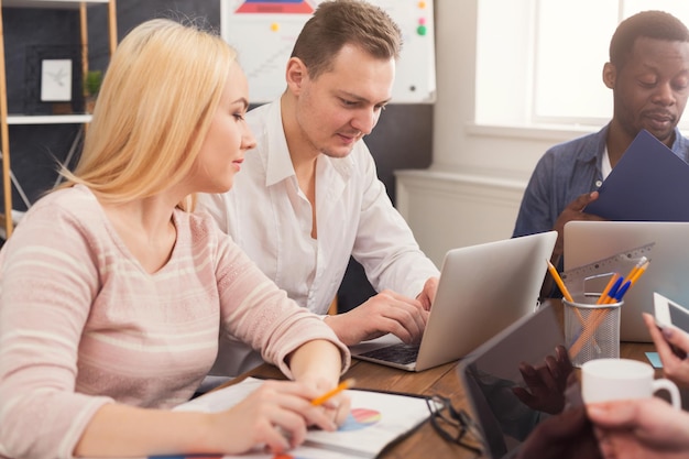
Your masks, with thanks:
M 565 225 L 565 271 L 653 243 L 645 274 L 624 295 L 620 340 L 650 342 L 642 313 L 653 293 L 689 304 L 689 222 L 570 221 Z M 627 273 L 620 273 L 627 275 Z

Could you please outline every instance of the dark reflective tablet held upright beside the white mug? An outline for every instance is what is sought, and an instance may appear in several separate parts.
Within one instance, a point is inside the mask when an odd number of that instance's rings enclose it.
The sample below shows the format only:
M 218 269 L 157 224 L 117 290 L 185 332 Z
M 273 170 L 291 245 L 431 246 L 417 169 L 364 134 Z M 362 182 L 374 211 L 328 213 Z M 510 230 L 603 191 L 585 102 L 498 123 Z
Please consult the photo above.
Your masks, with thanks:
M 564 345 L 553 307 L 545 303 L 478 348 L 458 368 L 491 458 L 516 453 L 542 420 L 564 409 L 567 378 L 572 372 Z

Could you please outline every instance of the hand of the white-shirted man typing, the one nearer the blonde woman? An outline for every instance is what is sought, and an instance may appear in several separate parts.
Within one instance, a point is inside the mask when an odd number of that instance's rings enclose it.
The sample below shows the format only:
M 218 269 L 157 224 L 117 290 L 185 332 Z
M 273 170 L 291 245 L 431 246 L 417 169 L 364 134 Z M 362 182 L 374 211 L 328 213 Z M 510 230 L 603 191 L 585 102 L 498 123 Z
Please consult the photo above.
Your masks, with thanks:
M 418 343 L 427 319 L 428 312 L 419 300 L 385 289 L 356 308 L 327 316 L 325 320 L 344 345 L 353 346 L 386 334 L 406 343 Z

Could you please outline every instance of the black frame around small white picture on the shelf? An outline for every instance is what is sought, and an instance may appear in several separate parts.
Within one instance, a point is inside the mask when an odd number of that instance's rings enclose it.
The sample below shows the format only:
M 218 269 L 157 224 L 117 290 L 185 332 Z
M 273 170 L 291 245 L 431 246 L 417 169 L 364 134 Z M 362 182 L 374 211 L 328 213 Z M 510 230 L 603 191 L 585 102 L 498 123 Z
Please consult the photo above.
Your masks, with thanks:
M 29 45 L 24 67 L 24 112 L 84 112 L 81 47 Z

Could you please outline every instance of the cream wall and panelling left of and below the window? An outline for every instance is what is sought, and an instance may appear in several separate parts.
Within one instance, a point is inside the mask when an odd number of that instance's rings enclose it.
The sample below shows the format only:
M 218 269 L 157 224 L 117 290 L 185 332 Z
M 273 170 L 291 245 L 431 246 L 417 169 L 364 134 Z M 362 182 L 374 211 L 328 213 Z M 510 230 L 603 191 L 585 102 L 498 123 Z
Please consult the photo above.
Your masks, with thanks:
M 395 173 L 397 208 L 438 265 L 451 248 L 510 238 L 540 155 L 590 132 L 474 123 L 478 1 L 436 0 L 434 160 Z

